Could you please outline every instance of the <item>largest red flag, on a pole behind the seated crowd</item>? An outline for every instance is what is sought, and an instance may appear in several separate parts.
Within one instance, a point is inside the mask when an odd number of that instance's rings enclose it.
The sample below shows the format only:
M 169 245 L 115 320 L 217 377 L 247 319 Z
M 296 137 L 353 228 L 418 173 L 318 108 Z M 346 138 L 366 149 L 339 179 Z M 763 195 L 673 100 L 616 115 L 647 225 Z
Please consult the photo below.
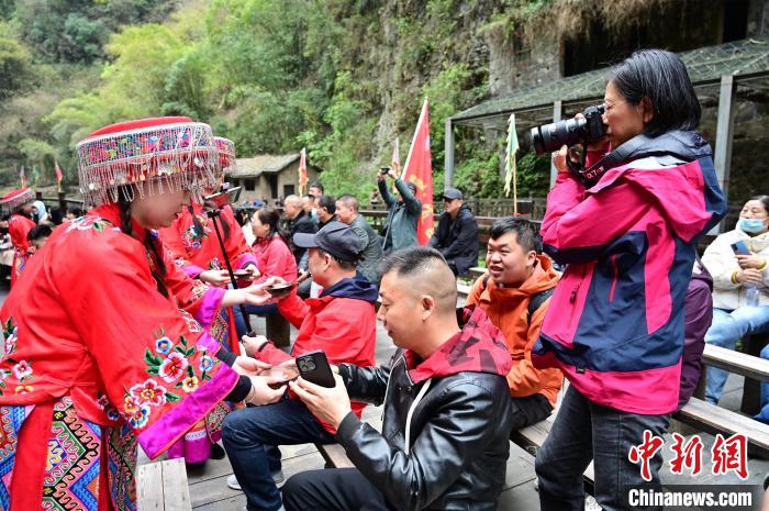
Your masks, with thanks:
M 416 226 L 416 240 L 426 245 L 435 230 L 433 220 L 433 158 L 430 155 L 430 113 L 427 99 L 422 105 L 409 157 L 405 159 L 403 180 L 416 185 L 416 198 L 422 202 L 422 218 Z

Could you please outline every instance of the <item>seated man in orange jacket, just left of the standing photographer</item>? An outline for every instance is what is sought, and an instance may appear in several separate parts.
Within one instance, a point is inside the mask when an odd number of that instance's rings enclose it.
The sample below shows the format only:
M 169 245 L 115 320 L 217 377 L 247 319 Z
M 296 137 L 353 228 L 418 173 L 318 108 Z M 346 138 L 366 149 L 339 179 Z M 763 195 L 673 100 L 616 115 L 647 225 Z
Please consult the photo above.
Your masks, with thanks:
M 536 369 L 532 347 L 547 312 L 558 274 L 542 247 L 534 224 L 506 216 L 491 226 L 488 274 L 472 286 L 467 304 L 477 304 L 504 333 L 513 367 L 508 374 L 512 430 L 539 422 L 553 412 L 564 376 Z

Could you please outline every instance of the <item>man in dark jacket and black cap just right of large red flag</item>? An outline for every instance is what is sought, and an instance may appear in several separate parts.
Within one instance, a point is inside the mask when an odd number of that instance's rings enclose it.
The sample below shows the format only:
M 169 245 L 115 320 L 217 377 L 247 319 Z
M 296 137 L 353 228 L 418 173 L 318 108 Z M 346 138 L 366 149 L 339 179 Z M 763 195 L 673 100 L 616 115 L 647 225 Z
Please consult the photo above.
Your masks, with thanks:
M 444 190 L 443 209 L 428 245 L 443 254 L 454 275 L 461 277 L 478 264 L 478 223 L 456 188 Z

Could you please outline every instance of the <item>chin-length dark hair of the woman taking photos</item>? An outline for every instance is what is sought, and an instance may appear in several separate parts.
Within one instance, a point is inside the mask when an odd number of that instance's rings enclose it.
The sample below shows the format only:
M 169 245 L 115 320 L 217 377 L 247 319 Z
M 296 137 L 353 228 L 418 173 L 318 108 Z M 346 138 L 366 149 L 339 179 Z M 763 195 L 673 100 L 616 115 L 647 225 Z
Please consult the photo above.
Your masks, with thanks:
M 643 49 L 614 66 L 609 75 L 631 104 L 644 98 L 651 103 L 654 116 L 647 135 L 671 130 L 694 130 L 702 110 L 681 58 L 664 49 Z

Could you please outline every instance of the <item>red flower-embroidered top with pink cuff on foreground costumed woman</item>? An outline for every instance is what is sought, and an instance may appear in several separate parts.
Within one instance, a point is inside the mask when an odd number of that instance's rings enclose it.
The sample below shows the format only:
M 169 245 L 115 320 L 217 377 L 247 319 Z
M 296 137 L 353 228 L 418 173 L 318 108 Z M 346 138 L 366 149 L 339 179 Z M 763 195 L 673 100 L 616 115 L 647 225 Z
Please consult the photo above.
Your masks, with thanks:
M 218 344 L 157 290 L 141 242 L 97 216 L 57 230 L 0 311 L 0 404 L 70 395 L 156 457 L 235 387 Z

